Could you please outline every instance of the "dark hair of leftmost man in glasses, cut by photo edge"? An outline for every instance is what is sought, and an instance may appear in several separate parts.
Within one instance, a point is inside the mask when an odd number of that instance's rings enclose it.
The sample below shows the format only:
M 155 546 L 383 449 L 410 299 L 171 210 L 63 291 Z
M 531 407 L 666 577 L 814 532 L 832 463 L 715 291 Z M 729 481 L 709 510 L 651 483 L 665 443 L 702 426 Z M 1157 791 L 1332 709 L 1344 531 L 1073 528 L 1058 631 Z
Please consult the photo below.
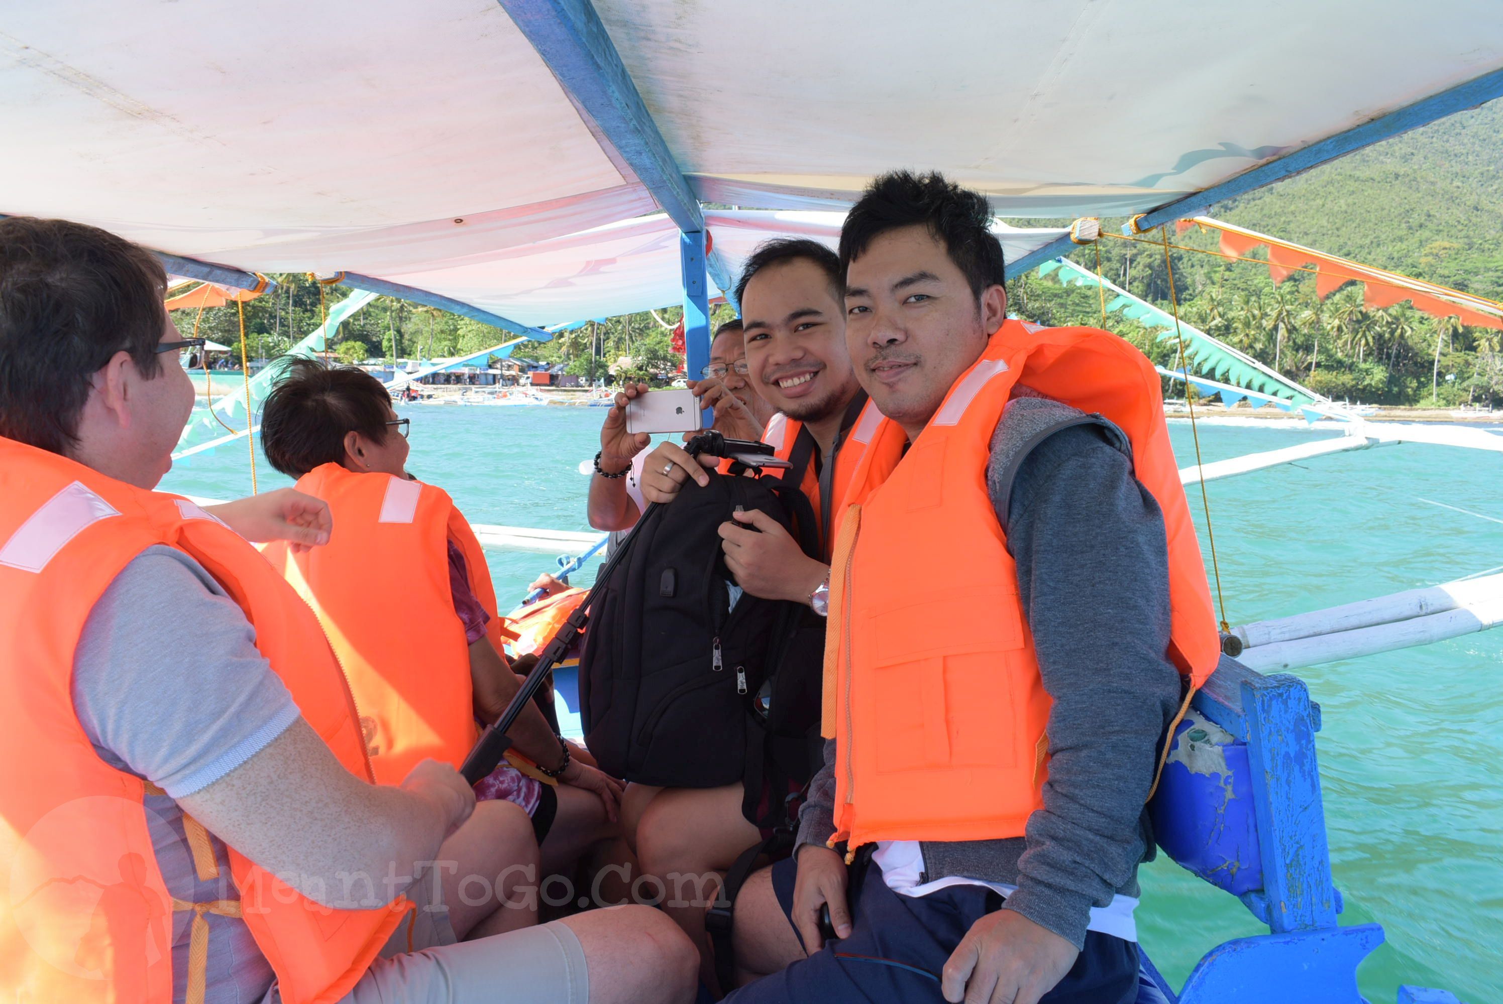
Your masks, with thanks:
M 0 219 L 0 436 L 66 452 L 90 379 L 114 353 L 156 377 L 165 292 L 162 263 L 125 237 L 68 219 Z

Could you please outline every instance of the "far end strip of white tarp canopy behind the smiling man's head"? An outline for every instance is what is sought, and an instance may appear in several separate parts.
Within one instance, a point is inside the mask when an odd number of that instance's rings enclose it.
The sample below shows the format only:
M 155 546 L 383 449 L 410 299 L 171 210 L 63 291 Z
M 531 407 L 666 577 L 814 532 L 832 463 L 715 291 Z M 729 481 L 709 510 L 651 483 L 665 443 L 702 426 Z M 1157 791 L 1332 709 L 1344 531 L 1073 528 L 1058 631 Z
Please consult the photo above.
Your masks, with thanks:
M 843 212 L 709 210 L 705 225 L 732 275 L 773 237 L 812 237 L 834 248 Z M 1009 260 L 1043 246 L 1064 230 L 993 227 Z M 404 286 L 433 290 L 547 328 L 586 317 L 631 314 L 682 296 L 678 227 L 664 213 L 607 224 L 585 233 L 451 262 L 425 272 L 397 272 Z M 711 286 L 711 296 L 720 290 Z

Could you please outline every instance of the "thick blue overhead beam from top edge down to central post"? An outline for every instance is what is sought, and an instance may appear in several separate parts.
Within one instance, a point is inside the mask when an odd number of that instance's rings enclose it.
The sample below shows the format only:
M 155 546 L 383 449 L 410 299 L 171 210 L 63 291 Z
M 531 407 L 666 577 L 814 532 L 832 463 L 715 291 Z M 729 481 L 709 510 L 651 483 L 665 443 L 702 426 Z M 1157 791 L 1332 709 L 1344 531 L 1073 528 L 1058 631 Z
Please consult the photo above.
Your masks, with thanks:
M 684 233 L 702 231 L 705 215 L 699 198 L 669 152 L 631 74 L 621 62 L 616 44 L 610 41 L 589 0 L 497 2 L 532 42 L 532 48 L 538 50 L 538 56 L 576 107 L 594 120 L 604 141 L 625 161 L 669 219 Z M 706 266 L 715 286 L 736 307 L 730 269 L 717 251 L 711 249 Z

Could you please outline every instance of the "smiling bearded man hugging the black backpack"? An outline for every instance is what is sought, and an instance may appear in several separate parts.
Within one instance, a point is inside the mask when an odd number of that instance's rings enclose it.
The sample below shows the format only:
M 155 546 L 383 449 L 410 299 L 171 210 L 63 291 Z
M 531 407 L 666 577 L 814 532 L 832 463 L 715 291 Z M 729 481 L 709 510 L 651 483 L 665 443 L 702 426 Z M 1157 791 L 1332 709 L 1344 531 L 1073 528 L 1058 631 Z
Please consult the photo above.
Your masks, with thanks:
M 821 523 L 821 556 L 804 555 L 780 523 L 753 510 L 738 513 L 739 523 L 720 526 L 726 565 L 736 585 L 755 597 L 809 604 L 809 618 L 816 625 L 828 606 L 828 517 L 843 508 L 846 485 L 881 421 L 851 368 L 840 293 L 836 254 L 813 240 L 789 239 L 758 246 L 736 290 L 745 329 L 747 379 L 779 412 L 762 440 L 794 464 L 779 473 L 797 478 L 809 497 Z M 678 443 L 661 443 L 643 464 L 642 494 L 648 502 L 672 502 L 691 476 L 703 485 L 718 475 Z M 807 672 L 818 681 L 818 652 Z M 643 873 L 666 879 L 726 872 L 742 851 L 765 836 L 745 818 L 745 806 L 761 803 L 762 810 L 783 806 L 788 795 L 803 789 L 816 767 L 818 761 L 809 764 L 801 777 L 788 777 L 792 791 L 773 791 L 768 782 L 761 792 L 750 792 L 752 798 L 742 783 L 652 792 L 636 830 Z M 627 803 L 639 804 L 643 794 L 640 786 L 633 786 Z M 702 977 L 714 986 L 717 977 L 705 936 L 703 906 L 670 903 L 664 909 L 699 944 Z

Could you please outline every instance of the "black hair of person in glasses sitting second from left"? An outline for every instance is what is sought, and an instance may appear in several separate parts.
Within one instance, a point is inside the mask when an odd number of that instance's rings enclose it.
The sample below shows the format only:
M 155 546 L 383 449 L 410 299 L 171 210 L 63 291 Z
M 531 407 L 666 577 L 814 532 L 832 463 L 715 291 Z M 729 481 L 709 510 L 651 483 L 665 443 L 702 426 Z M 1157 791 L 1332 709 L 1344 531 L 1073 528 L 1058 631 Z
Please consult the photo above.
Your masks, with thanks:
M 344 437 L 386 442 L 391 394 L 365 370 L 292 358 L 262 406 L 262 448 L 274 467 L 301 478 L 344 460 Z

